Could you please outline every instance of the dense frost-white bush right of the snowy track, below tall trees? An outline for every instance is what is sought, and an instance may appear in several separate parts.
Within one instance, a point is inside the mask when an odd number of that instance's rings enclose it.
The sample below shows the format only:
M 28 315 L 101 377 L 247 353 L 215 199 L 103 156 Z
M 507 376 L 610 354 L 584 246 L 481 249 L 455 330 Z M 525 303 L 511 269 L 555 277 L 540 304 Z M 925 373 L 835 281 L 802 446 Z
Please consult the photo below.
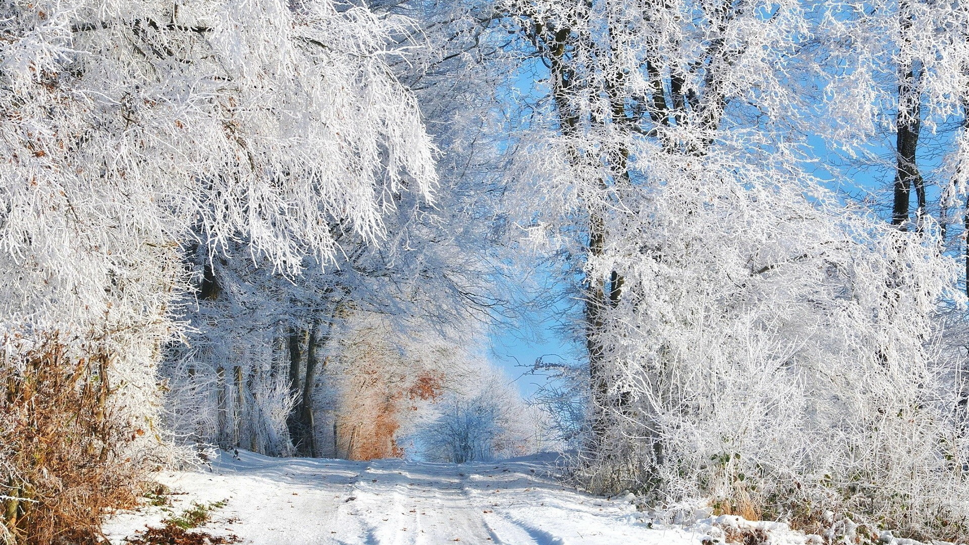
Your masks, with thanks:
M 589 272 L 623 277 L 603 315 L 608 425 L 582 478 L 747 517 L 957 536 L 967 438 L 938 310 L 953 260 L 753 159 L 650 153 Z

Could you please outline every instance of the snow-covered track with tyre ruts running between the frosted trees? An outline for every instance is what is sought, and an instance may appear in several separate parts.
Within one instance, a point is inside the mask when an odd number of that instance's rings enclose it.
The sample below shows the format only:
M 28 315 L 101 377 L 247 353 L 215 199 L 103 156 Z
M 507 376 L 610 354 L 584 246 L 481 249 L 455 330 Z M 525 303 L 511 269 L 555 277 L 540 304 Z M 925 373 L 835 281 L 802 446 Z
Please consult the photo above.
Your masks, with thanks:
M 700 545 L 724 539 L 722 527 L 765 525 L 732 518 L 660 524 L 632 496 L 593 497 L 554 477 L 549 456 L 493 464 L 402 460 L 349 462 L 221 453 L 210 469 L 166 472 L 172 506 L 144 506 L 111 517 L 105 533 L 122 543 L 145 525 L 192 503 L 226 500 L 202 529 L 257 545 Z M 182 493 L 182 494 L 179 494 Z M 771 543 L 810 542 L 783 525 L 762 527 Z

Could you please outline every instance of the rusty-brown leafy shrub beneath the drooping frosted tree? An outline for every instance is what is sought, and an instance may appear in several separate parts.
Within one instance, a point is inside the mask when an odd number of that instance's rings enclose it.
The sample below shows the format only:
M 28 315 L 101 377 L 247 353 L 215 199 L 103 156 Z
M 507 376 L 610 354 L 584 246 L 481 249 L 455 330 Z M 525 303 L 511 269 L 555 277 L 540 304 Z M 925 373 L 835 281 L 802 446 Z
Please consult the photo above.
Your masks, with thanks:
M 74 356 L 56 336 L 0 361 L 0 540 L 93 543 L 102 513 L 133 503 L 141 471 L 123 458 L 144 432 L 109 401 L 109 356 Z M 6 530 L 6 531 L 4 531 Z

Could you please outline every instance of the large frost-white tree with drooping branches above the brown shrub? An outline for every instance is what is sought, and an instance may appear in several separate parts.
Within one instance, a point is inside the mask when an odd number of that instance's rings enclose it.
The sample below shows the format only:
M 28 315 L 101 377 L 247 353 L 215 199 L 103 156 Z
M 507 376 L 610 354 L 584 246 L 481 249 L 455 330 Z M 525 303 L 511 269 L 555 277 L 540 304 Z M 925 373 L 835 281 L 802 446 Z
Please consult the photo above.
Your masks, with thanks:
M 189 245 L 241 239 L 298 272 L 334 259 L 335 232 L 380 240 L 395 200 L 436 184 L 388 65 L 399 17 L 328 0 L 78 0 L 0 18 L 5 349 L 56 335 L 69 360 L 107 358 L 87 381 L 114 385 L 119 426 L 154 425 Z

